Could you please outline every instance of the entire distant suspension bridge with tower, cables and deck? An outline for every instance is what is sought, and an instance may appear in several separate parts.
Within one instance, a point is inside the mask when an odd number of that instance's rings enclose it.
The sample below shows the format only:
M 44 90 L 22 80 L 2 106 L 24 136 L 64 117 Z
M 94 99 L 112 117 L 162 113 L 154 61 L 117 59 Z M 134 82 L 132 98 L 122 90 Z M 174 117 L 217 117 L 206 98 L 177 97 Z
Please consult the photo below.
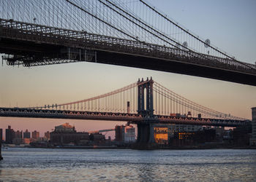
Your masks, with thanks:
M 155 124 L 238 127 L 250 122 L 201 106 L 152 78 L 139 79 L 121 89 L 75 102 L 0 108 L 0 116 L 123 121 L 137 124 L 138 141 L 142 143 L 154 142 Z

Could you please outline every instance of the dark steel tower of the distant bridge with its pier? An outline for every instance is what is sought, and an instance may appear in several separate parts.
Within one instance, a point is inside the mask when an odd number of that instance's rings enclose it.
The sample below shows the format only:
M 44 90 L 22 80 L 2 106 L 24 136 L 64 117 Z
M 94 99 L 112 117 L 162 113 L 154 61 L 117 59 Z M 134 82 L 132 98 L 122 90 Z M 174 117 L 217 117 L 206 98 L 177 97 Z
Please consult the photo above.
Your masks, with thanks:
M 138 127 L 138 148 L 146 149 L 155 143 L 154 140 L 154 123 L 157 122 L 154 119 L 153 109 L 153 84 L 154 81 L 151 79 L 138 80 L 138 114 L 144 117 L 144 120 L 137 124 Z M 146 92 L 145 92 L 146 90 Z M 146 94 L 146 95 L 145 95 Z M 146 108 L 145 108 L 146 99 Z

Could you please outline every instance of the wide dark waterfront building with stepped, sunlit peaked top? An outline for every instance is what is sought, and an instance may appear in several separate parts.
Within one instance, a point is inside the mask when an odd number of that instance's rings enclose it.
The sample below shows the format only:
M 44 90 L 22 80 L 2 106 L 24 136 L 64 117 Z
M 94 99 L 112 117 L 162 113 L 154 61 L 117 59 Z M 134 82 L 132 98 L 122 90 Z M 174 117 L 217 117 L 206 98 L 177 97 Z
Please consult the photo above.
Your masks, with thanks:
M 55 127 L 53 132 L 50 132 L 50 143 L 54 145 L 63 145 L 73 143 L 78 145 L 79 143 L 89 143 L 88 132 L 76 132 L 75 127 L 69 123 L 61 124 Z

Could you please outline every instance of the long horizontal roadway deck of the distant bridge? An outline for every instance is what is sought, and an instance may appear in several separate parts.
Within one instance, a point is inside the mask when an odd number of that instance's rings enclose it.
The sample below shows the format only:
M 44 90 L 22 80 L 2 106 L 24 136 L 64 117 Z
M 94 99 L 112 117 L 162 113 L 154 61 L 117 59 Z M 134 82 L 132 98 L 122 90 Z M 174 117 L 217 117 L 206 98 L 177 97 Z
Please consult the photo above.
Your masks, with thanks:
M 154 122 L 162 124 L 192 124 L 221 127 L 237 127 L 249 121 L 231 119 L 206 119 L 188 118 L 175 116 L 154 115 L 154 118 L 141 116 L 140 114 L 113 113 L 113 112 L 93 112 L 93 111 L 66 111 L 31 108 L 0 108 L 0 116 L 6 117 L 29 117 L 29 118 L 49 118 L 49 119 L 89 119 L 130 122 L 132 124 Z

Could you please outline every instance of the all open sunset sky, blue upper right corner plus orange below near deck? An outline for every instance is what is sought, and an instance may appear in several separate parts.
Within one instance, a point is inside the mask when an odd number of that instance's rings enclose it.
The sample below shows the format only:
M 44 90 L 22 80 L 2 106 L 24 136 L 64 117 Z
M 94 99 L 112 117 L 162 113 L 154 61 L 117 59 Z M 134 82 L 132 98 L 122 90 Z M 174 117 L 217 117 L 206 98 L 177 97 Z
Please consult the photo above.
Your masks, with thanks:
M 190 31 L 234 55 L 256 61 L 256 1 L 150 1 Z M 1 59 L 0 59 L 1 61 Z M 32 68 L 0 66 L 0 107 L 44 106 L 97 96 L 136 82 L 153 79 L 173 92 L 208 108 L 251 119 L 256 87 L 195 76 L 97 63 L 71 63 Z M 256 82 L 256 81 L 255 81 Z M 69 122 L 78 131 L 112 128 L 118 122 L 0 117 L 0 128 L 43 132 Z M 119 122 L 121 123 L 121 122 Z M 125 124 L 123 122 L 123 124 Z M 5 137 L 5 136 L 4 136 Z

